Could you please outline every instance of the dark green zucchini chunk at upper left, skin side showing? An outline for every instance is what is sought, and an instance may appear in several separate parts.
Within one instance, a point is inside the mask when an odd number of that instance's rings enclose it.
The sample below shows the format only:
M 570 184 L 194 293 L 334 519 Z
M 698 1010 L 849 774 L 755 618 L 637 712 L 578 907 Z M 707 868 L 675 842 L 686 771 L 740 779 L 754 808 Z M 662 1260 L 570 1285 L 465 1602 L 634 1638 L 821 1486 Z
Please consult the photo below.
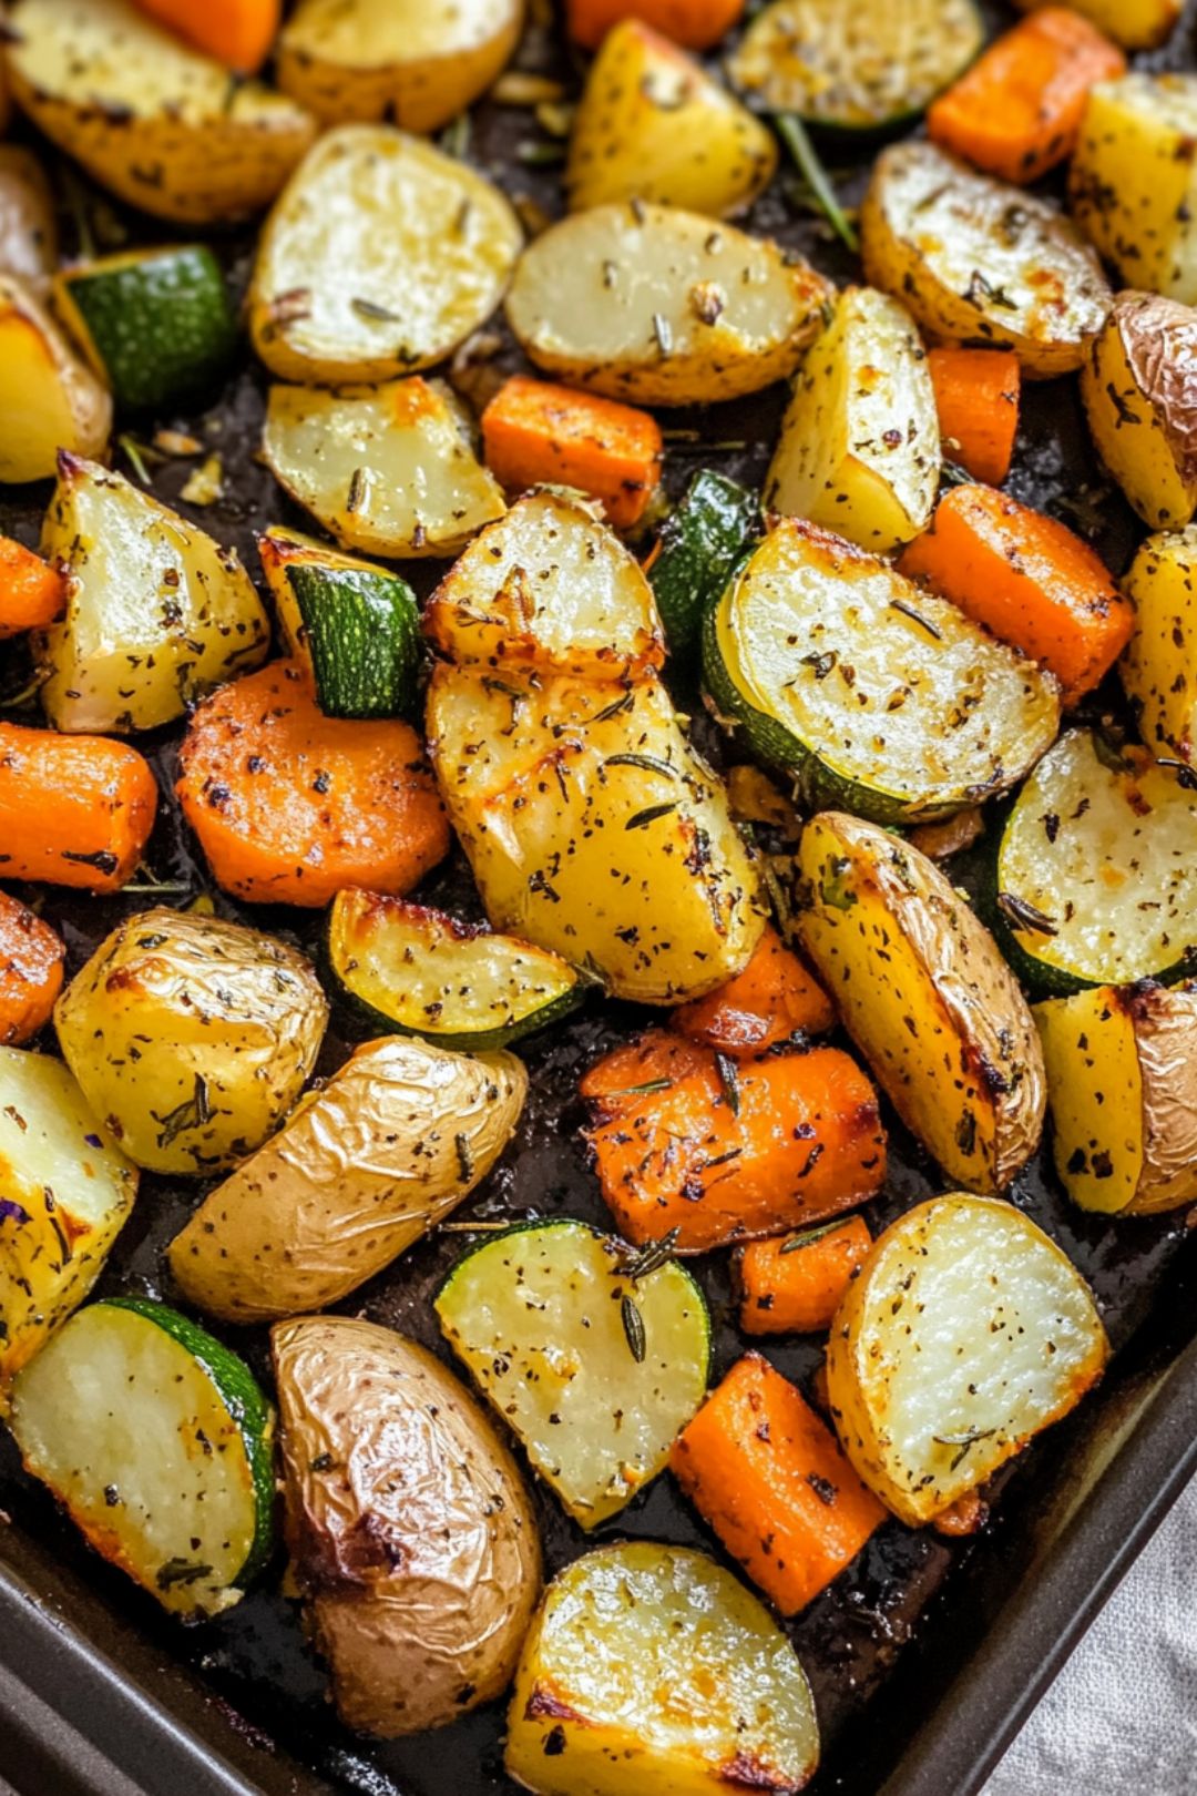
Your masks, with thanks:
M 203 244 L 68 268 L 54 304 L 117 402 L 156 409 L 212 392 L 237 347 L 221 266 Z

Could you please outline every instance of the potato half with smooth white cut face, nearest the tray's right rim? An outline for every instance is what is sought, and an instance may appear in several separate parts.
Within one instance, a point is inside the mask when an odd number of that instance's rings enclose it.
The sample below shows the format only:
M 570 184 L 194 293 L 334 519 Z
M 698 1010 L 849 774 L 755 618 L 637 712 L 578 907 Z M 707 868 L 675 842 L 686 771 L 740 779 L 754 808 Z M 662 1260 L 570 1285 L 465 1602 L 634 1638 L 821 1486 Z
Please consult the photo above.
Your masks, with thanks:
M 1061 1421 L 1109 1358 L 1088 1284 L 1012 1203 L 953 1193 L 872 1245 L 827 1336 L 843 1451 L 910 1527 Z

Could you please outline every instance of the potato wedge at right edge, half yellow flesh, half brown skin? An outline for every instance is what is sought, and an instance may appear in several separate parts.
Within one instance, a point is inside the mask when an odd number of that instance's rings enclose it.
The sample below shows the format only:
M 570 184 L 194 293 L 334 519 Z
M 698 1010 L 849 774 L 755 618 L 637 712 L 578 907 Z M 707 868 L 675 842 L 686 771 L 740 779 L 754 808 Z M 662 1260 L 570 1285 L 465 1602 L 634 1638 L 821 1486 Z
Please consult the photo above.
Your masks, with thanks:
M 1197 1198 L 1197 984 L 1097 986 L 1035 1006 L 1052 1153 L 1084 1211 Z

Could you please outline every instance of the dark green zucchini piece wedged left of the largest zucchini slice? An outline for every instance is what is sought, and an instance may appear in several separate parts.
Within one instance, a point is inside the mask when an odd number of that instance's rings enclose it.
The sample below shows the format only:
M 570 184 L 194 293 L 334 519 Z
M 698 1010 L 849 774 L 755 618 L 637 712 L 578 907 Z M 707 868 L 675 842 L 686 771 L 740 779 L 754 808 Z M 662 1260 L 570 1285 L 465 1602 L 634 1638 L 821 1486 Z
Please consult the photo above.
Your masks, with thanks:
M 754 492 L 711 469 L 695 474 L 660 526 L 660 555 L 648 575 L 671 654 L 696 648 L 705 612 L 759 532 Z

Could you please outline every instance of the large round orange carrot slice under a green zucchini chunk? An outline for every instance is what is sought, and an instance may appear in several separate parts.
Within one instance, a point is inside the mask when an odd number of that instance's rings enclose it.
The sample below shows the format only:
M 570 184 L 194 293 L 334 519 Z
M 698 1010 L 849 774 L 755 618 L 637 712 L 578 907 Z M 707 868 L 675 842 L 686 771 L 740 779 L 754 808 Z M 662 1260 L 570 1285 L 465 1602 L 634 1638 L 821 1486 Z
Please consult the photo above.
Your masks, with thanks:
M 343 885 L 402 898 L 449 853 L 420 738 L 325 717 L 298 661 L 206 699 L 176 792 L 217 884 L 251 903 L 325 905 Z

